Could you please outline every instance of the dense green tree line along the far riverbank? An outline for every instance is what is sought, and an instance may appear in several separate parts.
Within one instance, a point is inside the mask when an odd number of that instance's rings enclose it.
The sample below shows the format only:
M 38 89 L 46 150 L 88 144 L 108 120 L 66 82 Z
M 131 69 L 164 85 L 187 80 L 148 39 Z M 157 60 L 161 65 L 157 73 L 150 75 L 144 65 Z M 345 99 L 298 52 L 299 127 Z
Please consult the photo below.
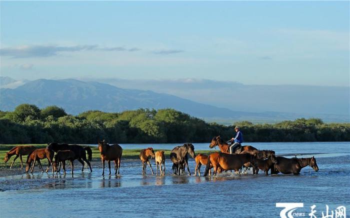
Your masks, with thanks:
M 123 112 L 90 110 L 76 116 L 57 106 L 38 108 L 20 104 L 0 111 L 0 143 L 115 143 L 209 142 L 220 135 L 230 139 L 239 125 L 248 141 L 350 141 L 350 123 L 323 123 L 318 118 L 275 124 L 248 121 L 231 126 L 205 121 L 174 109 L 137 109 Z

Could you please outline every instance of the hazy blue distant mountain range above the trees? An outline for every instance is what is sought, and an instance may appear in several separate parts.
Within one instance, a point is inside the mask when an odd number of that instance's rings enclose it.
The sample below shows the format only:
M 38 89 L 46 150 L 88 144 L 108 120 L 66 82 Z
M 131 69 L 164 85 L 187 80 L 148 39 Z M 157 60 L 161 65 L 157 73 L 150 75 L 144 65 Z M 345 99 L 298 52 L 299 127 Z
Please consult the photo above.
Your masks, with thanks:
M 18 104 L 31 103 L 39 107 L 57 105 L 66 112 L 78 114 L 86 110 L 120 112 L 137 108 L 174 108 L 206 120 L 284 120 L 310 117 L 290 112 L 243 112 L 149 90 L 119 88 L 96 81 L 76 79 L 37 79 L 16 81 L 1 77 L 0 109 L 13 110 Z M 9 88 L 10 87 L 10 88 Z M 348 121 L 348 116 L 314 114 L 326 121 Z

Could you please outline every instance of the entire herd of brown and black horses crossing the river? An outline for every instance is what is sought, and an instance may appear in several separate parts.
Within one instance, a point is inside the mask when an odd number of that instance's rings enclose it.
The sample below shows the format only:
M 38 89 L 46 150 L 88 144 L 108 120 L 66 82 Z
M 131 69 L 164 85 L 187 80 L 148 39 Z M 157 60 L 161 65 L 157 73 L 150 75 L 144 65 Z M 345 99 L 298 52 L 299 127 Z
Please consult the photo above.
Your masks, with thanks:
M 271 174 L 277 174 L 279 172 L 284 174 L 299 174 L 301 168 L 309 165 L 315 171 L 318 171 L 316 159 L 312 156 L 310 158 L 286 158 L 282 156 L 275 156 L 273 150 L 258 150 L 253 146 L 244 145 L 236 149 L 233 154 L 229 153 L 229 144 L 223 141 L 220 136 L 215 136 L 211 139 L 210 148 L 218 146 L 221 152 L 213 152 L 209 155 L 195 154 L 194 146 L 191 143 L 185 143 L 181 146 L 174 147 L 170 152 L 170 160 L 172 162 L 172 170 L 174 174 L 179 175 L 183 173 L 187 168 L 188 174 L 191 175 L 188 166 L 188 155 L 195 159 L 195 175 L 200 176 L 200 167 L 205 165 L 204 176 L 211 174 L 211 168 L 213 168 L 213 174 L 217 172 L 234 170 L 235 173 L 241 173 L 241 170 L 245 170 L 248 167 L 252 167 L 253 174 L 257 174 L 259 170 L 265 172 L 268 175 L 268 171 Z M 104 162 L 108 162 L 109 174 L 110 161 L 114 161 L 115 173 L 119 174 L 120 159 L 122 156 L 122 148 L 118 144 L 108 144 L 103 141 L 98 141 L 98 150 L 101 157 L 104 174 Z M 54 154 L 56 153 L 56 154 Z M 87 153 L 87 158 L 86 158 Z M 48 172 L 50 165 L 52 165 L 52 173 L 59 172 L 62 166 L 65 174 L 65 161 L 69 160 L 71 164 L 71 174 L 73 174 L 73 161 L 77 159 L 82 164 L 81 171 L 84 170 L 84 162 L 89 166 L 90 172 L 92 172 L 90 161 L 92 159 L 92 150 L 90 147 L 83 147 L 77 144 L 66 144 L 66 143 L 48 143 L 46 148 L 38 148 L 28 146 L 16 146 L 6 152 L 4 161 L 15 155 L 10 168 L 13 166 L 14 161 L 19 157 L 21 162 L 21 169 L 23 168 L 22 155 L 27 155 L 25 171 L 33 171 L 35 162 L 38 163 L 41 171 L 43 168 L 40 163 L 40 159 L 47 158 L 48 166 L 46 172 Z M 150 159 L 155 159 L 156 174 L 158 175 L 158 169 L 160 175 L 165 175 L 165 155 L 164 151 L 154 152 L 153 148 L 148 147 L 142 149 L 139 154 L 139 158 L 142 162 L 142 175 L 146 174 L 147 163 L 151 169 L 153 169 L 150 163 Z

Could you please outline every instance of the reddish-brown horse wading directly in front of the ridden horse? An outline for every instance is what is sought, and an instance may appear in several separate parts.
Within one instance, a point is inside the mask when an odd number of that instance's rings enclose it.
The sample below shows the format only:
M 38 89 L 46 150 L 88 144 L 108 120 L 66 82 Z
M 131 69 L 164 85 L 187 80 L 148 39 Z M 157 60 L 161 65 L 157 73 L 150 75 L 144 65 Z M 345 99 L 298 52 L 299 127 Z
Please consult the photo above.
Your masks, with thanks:
M 246 162 L 250 162 L 254 159 L 254 156 L 249 153 L 243 154 L 229 154 L 222 152 L 213 152 L 208 156 L 208 161 L 205 167 L 204 176 L 208 175 L 209 169 L 214 168 L 214 175 L 219 167 L 223 170 L 234 169 L 236 173 L 240 175 L 239 169 Z

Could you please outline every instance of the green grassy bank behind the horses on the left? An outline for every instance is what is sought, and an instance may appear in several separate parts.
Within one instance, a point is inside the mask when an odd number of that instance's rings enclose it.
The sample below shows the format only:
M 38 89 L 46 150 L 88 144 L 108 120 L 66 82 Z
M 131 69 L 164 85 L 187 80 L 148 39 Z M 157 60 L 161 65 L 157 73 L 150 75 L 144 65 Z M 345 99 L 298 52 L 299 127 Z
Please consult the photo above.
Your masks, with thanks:
M 5 153 L 9 151 L 12 147 L 17 146 L 18 144 L 0 144 L 0 168 L 8 168 L 12 160 L 15 156 L 12 156 L 7 163 L 3 161 L 3 158 L 5 157 Z M 21 145 L 29 145 L 29 144 L 21 144 Z M 30 144 L 34 145 L 37 148 L 45 148 L 46 144 Z M 99 156 L 99 150 L 97 147 L 90 146 L 92 150 L 92 161 L 100 161 L 100 156 Z M 139 159 L 139 152 L 141 149 L 123 149 L 122 151 L 122 159 Z M 171 150 L 165 150 L 165 149 L 154 149 L 154 151 L 157 150 L 164 150 L 165 151 L 165 158 L 169 159 L 170 151 Z M 208 154 L 209 152 L 213 152 L 214 150 L 195 150 L 195 153 L 205 153 Z M 24 162 L 26 161 L 26 156 L 23 157 L 23 165 L 25 164 Z M 40 160 L 41 164 L 44 164 L 45 167 L 47 166 L 47 159 Z M 20 160 L 17 158 L 14 162 L 14 167 L 20 166 Z

